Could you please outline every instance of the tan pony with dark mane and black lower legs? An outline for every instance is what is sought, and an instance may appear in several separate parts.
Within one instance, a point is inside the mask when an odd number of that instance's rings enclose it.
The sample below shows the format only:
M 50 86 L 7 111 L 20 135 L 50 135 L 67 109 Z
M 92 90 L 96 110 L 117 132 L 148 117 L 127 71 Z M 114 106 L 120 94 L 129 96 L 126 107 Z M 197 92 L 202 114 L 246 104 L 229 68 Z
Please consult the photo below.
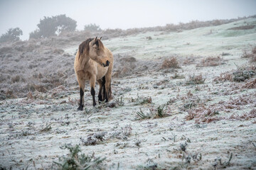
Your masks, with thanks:
M 100 84 L 98 94 L 99 103 L 108 102 L 111 99 L 111 74 L 113 68 L 113 55 L 101 41 L 101 38 L 88 38 L 79 45 L 77 55 L 75 56 L 75 74 L 80 86 L 80 105 L 79 111 L 84 107 L 85 80 L 90 81 L 90 93 L 92 94 L 92 105 L 95 101 L 95 83 Z

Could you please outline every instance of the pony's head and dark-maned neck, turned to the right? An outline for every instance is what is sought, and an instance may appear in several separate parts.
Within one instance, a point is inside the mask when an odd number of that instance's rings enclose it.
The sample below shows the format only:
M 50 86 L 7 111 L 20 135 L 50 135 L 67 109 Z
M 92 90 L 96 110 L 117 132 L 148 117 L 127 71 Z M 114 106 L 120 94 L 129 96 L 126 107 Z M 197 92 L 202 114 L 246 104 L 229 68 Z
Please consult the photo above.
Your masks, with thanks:
M 79 57 L 82 55 L 90 57 L 103 67 L 110 65 L 110 59 L 107 57 L 101 38 L 88 38 L 79 45 L 79 52 Z

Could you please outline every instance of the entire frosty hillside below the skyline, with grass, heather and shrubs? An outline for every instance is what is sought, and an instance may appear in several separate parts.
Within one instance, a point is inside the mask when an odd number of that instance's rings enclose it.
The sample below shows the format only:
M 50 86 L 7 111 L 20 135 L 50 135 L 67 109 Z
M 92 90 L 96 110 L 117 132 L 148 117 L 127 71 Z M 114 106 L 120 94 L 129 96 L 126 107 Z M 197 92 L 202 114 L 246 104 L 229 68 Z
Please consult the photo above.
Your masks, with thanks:
M 155 29 L 1 43 L 1 169 L 255 169 L 255 16 Z M 75 52 L 100 33 L 113 99 L 87 81 L 78 112 Z

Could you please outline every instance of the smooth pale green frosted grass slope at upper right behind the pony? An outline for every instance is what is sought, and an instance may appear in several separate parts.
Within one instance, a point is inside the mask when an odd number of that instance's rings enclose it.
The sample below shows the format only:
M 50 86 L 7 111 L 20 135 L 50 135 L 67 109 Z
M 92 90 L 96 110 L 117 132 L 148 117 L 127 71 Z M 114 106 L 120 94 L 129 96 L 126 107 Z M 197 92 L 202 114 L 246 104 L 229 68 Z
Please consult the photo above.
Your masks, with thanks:
M 220 55 L 231 52 L 240 55 L 247 45 L 255 44 L 256 28 L 250 30 L 228 30 L 237 26 L 255 25 L 255 18 L 242 21 L 185 30 L 180 33 L 148 32 L 124 38 L 105 40 L 105 44 L 115 53 L 136 56 L 136 58 L 157 58 L 169 54 L 176 55 Z M 152 40 L 146 40 L 151 36 Z

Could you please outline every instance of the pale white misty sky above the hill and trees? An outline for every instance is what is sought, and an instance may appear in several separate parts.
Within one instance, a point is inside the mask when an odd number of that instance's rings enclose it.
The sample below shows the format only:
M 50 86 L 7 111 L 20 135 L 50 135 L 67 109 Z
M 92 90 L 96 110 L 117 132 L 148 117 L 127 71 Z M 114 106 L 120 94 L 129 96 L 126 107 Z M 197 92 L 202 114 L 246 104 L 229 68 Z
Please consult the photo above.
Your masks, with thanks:
M 0 0 L 0 35 L 18 27 L 26 40 L 43 16 L 60 14 L 78 30 L 89 23 L 127 29 L 255 15 L 256 0 Z

